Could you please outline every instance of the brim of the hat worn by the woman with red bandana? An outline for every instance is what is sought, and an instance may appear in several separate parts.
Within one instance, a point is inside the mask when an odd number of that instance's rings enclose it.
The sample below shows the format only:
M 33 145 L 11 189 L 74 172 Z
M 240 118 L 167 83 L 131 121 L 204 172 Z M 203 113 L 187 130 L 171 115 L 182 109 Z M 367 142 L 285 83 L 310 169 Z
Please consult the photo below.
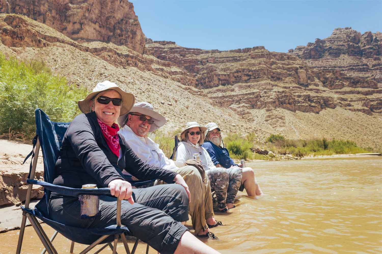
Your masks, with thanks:
M 127 93 L 123 91 L 121 88 L 118 86 L 112 86 L 104 90 L 100 90 L 97 92 L 92 92 L 89 93 L 85 99 L 79 100 L 78 101 L 78 108 L 81 110 L 83 113 L 90 113 L 91 108 L 90 108 L 90 101 L 99 93 L 102 93 L 103 91 L 113 89 L 117 91 L 121 95 L 122 99 L 122 105 L 121 105 L 121 110 L 120 110 L 120 115 L 125 115 L 127 114 L 130 109 L 133 107 L 134 102 L 135 102 L 135 96 L 132 93 Z

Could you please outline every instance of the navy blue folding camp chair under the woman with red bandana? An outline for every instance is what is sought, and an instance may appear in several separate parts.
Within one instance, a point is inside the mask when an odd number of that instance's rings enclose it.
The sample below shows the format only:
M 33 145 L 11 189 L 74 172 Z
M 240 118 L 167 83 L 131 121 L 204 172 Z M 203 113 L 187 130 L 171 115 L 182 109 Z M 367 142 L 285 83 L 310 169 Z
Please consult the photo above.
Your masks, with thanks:
M 97 244 L 104 244 L 97 252 L 99 253 L 102 249 L 109 246 L 113 250 L 113 254 L 117 251 L 118 238 L 120 237 L 123 241 L 126 253 L 130 253 L 128 243 L 126 241 L 126 235 L 131 235 L 129 229 L 121 225 L 121 201 L 117 201 L 117 225 L 109 226 L 106 228 L 78 228 L 71 227 L 68 225 L 55 222 L 50 219 L 49 216 L 49 198 L 50 192 L 56 192 L 65 196 L 79 196 L 83 194 L 87 195 L 110 195 L 109 188 L 101 189 L 73 189 L 69 187 L 63 187 L 52 184 L 53 178 L 55 177 L 55 164 L 58 158 L 60 151 L 60 146 L 62 138 L 66 132 L 66 129 L 69 127 L 70 123 L 56 123 L 50 121 L 49 117 L 41 110 L 35 110 L 36 116 L 36 136 L 33 139 L 33 150 L 25 158 L 24 162 L 32 155 L 32 162 L 29 169 L 29 175 L 27 183 L 29 184 L 28 192 L 26 195 L 25 206 L 21 206 L 23 210 L 23 219 L 21 221 L 20 235 L 17 244 L 16 253 L 21 252 L 21 245 L 23 242 L 24 229 L 26 224 L 26 218 L 31 222 L 34 230 L 39 236 L 42 244 L 44 244 L 45 249 L 42 251 L 44 253 L 47 251 L 49 254 L 57 253 L 57 250 L 54 248 L 52 241 L 57 235 L 57 232 L 61 233 L 63 236 L 71 240 L 70 253 L 73 253 L 74 243 L 81 243 L 89 245 L 85 248 L 81 254 L 84 254 L 94 248 Z M 44 181 L 34 180 L 37 158 L 39 155 L 39 150 L 42 150 L 42 155 L 44 158 Z M 142 181 L 142 182 L 131 182 L 134 186 L 139 186 L 147 184 L 151 181 Z M 29 203 L 31 200 L 31 192 L 33 184 L 38 184 L 44 187 L 44 196 L 36 204 L 34 209 L 29 208 Z M 39 224 L 39 218 L 50 227 L 54 228 L 56 232 L 49 239 Z M 114 241 L 113 244 L 111 242 Z M 138 246 L 139 239 L 136 239 L 134 247 L 131 253 L 134 253 L 136 247 Z M 149 245 L 147 244 L 146 253 L 149 251 Z

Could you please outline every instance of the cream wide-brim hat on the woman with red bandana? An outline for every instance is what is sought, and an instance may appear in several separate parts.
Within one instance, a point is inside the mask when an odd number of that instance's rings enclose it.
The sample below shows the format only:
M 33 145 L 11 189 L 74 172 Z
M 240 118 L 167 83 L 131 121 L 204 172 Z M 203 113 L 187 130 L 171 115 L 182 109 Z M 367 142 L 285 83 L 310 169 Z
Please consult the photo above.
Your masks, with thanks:
M 85 99 L 78 101 L 79 110 L 81 110 L 81 112 L 83 113 L 89 113 L 91 111 L 89 102 L 92 99 L 94 99 L 94 97 L 97 96 L 97 94 L 109 89 L 113 89 L 121 95 L 122 105 L 121 105 L 120 115 L 125 115 L 126 113 L 128 113 L 131 107 L 133 107 L 133 104 L 135 102 L 134 94 L 123 91 L 115 83 L 110 82 L 108 80 L 105 80 L 102 83 L 97 83 L 93 91 L 89 93 Z

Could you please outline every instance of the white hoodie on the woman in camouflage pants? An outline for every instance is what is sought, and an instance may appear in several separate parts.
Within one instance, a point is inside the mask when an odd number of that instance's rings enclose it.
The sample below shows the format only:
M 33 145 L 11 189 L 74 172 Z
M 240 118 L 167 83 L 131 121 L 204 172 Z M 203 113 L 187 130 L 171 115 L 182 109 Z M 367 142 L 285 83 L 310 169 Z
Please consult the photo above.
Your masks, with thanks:
M 216 166 L 211 160 L 207 150 L 199 144 L 192 144 L 191 142 L 179 142 L 178 150 L 176 150 L 176 162 L 184 163 L 186 160 L 192 159 L 194 153 L 199 153 L 199 159 L 203 165 L 204 170 L 214 169 Z

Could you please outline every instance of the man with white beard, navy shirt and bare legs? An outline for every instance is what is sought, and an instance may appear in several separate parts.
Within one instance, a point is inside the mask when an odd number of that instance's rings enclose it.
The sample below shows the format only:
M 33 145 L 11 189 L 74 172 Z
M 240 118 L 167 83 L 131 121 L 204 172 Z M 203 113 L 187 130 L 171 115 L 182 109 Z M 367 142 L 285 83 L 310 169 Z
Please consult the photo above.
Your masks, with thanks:
M 206 125 L 204 143 L 202 147 L 209 153 L 212 162 L 216 167 L 231 168 L 241 167 L 233 162 L 230 158 L 230 153 L 224 147 L 220 128 L 216 123 L 208 123 Z M 259 184 L 255 179 L 253 169 L 250 167 L 243 168 L 243 177 L 241 178 L 240 191 L 246 190 L 248 196 L 262 195 Z

